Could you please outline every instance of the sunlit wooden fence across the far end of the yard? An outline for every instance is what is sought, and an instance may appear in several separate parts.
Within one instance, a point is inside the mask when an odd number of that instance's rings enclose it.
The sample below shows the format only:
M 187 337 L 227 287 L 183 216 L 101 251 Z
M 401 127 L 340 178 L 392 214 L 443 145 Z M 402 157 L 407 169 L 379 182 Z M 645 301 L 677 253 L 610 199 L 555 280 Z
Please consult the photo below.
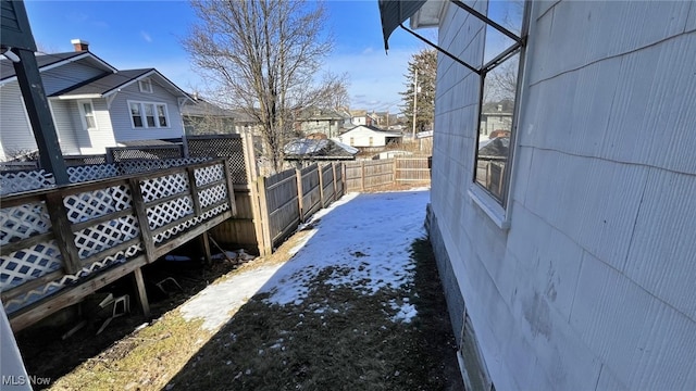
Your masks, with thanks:
M 428 157 L 393 157 L 347 162 L 346 191 L 364 191 L 395 184 L 427 184 L 431 181 Z

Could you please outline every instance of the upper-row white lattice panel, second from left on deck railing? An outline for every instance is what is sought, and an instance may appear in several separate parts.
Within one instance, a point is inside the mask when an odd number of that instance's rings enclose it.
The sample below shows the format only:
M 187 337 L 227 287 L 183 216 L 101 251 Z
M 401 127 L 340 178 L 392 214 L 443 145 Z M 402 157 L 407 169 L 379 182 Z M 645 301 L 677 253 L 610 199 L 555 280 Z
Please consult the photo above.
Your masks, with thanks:
M 109 213 L 130 207 L 130 190 L 125 186 L 67 195 L 63 205 L 67 209 L 67 218 L 72 223 L 86 222 Z

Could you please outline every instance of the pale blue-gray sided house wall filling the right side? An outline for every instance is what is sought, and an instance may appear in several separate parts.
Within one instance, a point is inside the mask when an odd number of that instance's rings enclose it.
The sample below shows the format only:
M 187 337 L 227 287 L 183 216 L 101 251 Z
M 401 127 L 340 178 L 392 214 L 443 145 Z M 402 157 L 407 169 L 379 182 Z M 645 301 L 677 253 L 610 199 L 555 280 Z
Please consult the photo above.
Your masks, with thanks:
M 465 306 L 498 390 L 696 389 L 696 3 L 531 7 L 509 230 L 470 193 L 477 76 L 438 56 L 428 224 L 455 333 Z M 481 63 L 480 27 L 446 5 L 439 45 Z

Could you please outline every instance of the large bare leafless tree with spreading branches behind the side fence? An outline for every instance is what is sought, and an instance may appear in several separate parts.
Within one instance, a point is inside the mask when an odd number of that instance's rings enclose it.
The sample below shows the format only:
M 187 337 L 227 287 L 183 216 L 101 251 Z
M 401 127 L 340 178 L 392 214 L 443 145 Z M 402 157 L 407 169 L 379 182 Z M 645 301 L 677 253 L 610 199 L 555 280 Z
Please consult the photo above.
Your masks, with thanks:
M 274 168 L 295 114 L 330 104 L 345 78 L 316 77 L 333 40 L 322 29 L 321 2 L 293 0 L 192 0 L 198 16 L 184 47 L 222 94 L 220 100 L 261 125 Z

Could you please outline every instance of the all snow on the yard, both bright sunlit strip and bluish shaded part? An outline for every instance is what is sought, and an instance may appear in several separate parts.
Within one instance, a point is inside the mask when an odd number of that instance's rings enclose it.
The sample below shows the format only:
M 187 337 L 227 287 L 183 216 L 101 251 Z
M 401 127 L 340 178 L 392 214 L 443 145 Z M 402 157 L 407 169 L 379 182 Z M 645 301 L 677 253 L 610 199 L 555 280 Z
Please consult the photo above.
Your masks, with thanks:
M 413 281 L 411 243 L 425 236 L 427 189 L 403 192 L 348 193 L 319 211 L 304 228 L 309 235 L 285 263 L 260 266 L 211 285 L 184 304 L 181 312 L 190 320 L 203 318 L 203 328 L 216 330 L 246 301 L 268 292 L 269 303 L 300 304 L 320 272 L 333 273 L 324 281 L 348 286 L 364 294 L 384 288 L 407 288 Z M 407 298 L 385 303 L 397 311 L 394 321 L 411 321 L 415 307 Z M 335 308 L 312 306 L 318 314 Z M 300 317 L 301 318 L 301 317 Z M 301 323 L 301 320 L 300 320 Z

